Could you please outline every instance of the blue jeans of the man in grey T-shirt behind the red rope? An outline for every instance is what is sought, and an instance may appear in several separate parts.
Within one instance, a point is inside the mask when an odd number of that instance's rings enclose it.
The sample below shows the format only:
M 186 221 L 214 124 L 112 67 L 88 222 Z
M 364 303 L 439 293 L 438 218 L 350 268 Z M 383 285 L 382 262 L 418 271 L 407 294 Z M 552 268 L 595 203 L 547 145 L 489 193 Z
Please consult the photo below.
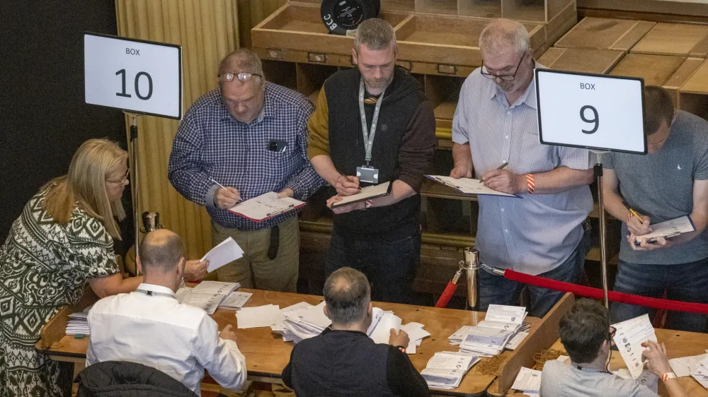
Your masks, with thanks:
M 619 261 L 615 291 L 661 298 L 664 290 L 670 300 L 708 303 L 708 259 L 680 265 L 641 265 Z M 610 305 L 613 323 L 634 319 L 645 313 L 653 317 L 655 312 L 655 309 L 634 304 L 613 302 Z M 708 315 L 669 312 L 666 326 L 679 331 L 708 332 Z

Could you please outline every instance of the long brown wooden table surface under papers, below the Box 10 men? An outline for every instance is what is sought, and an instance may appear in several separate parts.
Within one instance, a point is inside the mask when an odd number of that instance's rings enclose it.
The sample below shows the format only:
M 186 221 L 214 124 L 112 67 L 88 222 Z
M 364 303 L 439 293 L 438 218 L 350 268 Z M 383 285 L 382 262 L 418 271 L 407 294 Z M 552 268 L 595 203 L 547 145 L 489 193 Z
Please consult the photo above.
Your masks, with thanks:
M 322 297 L 314 295 L 300 295 L 287 292 L 270 292 L 262 290 L 249 290 L 241 288 L 239 291 L 253 292 L 253 297 L 246 304 L 246 307 L 261 306 L 263 304 L 278 304 L 280 308 L 296 304 L 298 302 L 308 302 L 318 304 Z M 417 349 L 415 355 L 409 355 L 413 365 L 421 371 L 426 367 L 430 357 L 439 351 L 457 351 L 457 346 L 450 345 L 447 337 L 455 333 L 457 329 L 465 325 L 476 325 L 484 319 L 483 312 L 471 312 L 467 310 L 438 309 L 435 307 L 413 306 L 409 304 L 392 304 L 385 302 L 375 302 L 375 307 L 384 310 L 392 310 L 396 316 L 403 319 L 403 323 L 416 321 L 425 324 L 424 329 L 430 332 L 428 338 L 423 339 L 423 343 Z M 227 324 L 237 325 L 235 311 L 218 309 L 212 318 L 217 321 L 219 328 Z M 530 332 L 533 333 L 539 328 L 541 319 L 527 317 L 525 322 L 531 324 Z M 246 356 L 246 369 L 249 372 L 249 379 L 256 381 L 280 381 L 280 373 L 290 360 L 292 343 L 285 343 L 282 337 L 271 332 L 270 328 L 249 328 L 235 329 L 239 338 L 239 349 Z M 74 339 L 73 336 L 62 336 L 56 342 L 48 344 L 49 348 L 42 348 L 42 340 L 37 344 L 38 350 L 47 353 L 52 360 L 67 361 L 83 365 L 86 360 L 86 348 L 89 345 L 88 338 Z M 510 359 L 514 352 L 506 350 L 502 357 Z M 487 359 L 482 359 L 482 362 Z M 506 360 L 508 361 L 508 360 Z M 81 367 L 79 366 L 79 367 Z M 493 375 L 485 375 L 476 372 L 479 363 L 472 367 L 462 379 L 462 384 L 457 389 L 451 391 L 435 391 L 436 395 L 442 396 L 485 396 L 486 389 L 495 379 Z

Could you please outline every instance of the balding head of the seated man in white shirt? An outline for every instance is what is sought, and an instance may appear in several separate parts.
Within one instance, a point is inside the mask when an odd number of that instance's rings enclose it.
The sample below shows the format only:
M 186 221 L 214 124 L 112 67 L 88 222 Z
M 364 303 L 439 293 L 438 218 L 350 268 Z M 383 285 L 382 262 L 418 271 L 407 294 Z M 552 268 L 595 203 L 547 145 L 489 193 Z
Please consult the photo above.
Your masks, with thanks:
M 186 255 L 182 239 L 166 229 L 149 232 L 140 244 L 140 264 L 145 274 L 174 271 Z

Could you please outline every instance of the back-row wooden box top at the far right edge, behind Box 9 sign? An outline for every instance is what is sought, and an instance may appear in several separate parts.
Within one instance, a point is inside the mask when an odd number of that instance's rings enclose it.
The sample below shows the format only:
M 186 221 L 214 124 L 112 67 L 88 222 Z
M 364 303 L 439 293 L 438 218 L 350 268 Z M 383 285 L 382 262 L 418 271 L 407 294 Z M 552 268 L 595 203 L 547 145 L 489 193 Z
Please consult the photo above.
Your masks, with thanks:
M 708 25 L 657 23 L 632 47 L 632 52 L 705 57 Z

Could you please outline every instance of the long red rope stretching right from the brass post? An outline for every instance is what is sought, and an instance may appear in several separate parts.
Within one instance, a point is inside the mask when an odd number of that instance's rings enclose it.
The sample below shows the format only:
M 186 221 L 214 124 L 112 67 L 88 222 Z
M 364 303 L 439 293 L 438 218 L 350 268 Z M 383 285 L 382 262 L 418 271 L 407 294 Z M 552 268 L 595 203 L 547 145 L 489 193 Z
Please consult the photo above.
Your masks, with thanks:
M 519 273 L 506 269 L 504 277 L 508 280 L 517 281 L 519 283 L 536 285 L 537 287 L 548 288 L 561 292 L 573 292 L 576 295 L 584 297 L 592 297 L 595 299 L 604 299 L 605 294 L 600 288 L 583 287 L 583 285 L 564 283 L 563 281 L 551 280 L 549 278 L 539 277 L 526 273 Z M 675 300 L 665 300 L 651 297 L 641 297 L 639 295 L 625 294 L 623 292 L 607 292 L 607 299 L 612 302 L 622 302 L 628 304 L 638 304 L 639 306 L 653 307 L 654 309 L 673 310 L 675 312 L 690 312 L 708 314 L 708 304 L 679 302 Z

